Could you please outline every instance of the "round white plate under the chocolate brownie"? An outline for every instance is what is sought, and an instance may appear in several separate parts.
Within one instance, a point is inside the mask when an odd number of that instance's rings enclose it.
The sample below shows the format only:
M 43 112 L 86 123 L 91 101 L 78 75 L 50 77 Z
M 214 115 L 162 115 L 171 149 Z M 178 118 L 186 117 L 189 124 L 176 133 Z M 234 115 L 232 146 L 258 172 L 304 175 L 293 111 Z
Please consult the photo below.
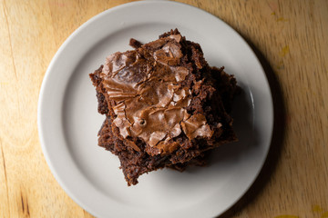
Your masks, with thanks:
M 233 117 L 239 143 L 222 145 L 209 167 L 184 173 L 159 170 L 128 187 L 118 158 L 97 146 L 104 116 L 97 114 L 88 77 L 106 56 L 179 28 L 200 43 L 210 65 L 235 74 L 243 89 Z M 256 56 L 229 25 L 196 7 L 167 1 L 136 2 L 87 21 L 59 48 L 46 71 L 38 129 L 52 173 L 79 205 L 97 217 L 213 217 L 249 189 L 272 138 L 272 96 Z

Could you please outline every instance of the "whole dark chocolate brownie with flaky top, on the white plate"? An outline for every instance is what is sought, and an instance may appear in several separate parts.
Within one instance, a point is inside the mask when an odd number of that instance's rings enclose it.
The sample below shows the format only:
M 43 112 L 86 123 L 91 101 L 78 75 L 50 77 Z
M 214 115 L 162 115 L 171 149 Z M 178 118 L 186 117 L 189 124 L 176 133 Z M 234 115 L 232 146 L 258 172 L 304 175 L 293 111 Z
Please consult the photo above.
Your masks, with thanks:
M 129 45 L 89 74 L 106 116 L 98 145 L 118 155 L 128 185 L 160 168 L 204 165 L 207 151 L 237 141 L 229 114 L 236 80 L 210 67 L 199 44 L 175 29 Z

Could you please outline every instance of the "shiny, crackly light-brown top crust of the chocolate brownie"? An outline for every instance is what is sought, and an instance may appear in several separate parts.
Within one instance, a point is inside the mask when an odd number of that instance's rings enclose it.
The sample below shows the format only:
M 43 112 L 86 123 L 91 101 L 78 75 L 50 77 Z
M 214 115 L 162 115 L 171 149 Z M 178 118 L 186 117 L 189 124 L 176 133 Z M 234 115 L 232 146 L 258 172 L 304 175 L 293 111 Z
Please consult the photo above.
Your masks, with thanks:
M 180 41 L 181 35 L 169 35 L 136 50 L 111 54 L 100 74 L 113 100 L 113 124 L 119 133 L 127 140 L 141 138 L 161 154 L 177 148 L 179 144 L 170 139 L 182 132 L 190 140 L 213 134 L 203 114 L 185 109 L 191 93 L 182 82 L 190 71 L 180 64 Z

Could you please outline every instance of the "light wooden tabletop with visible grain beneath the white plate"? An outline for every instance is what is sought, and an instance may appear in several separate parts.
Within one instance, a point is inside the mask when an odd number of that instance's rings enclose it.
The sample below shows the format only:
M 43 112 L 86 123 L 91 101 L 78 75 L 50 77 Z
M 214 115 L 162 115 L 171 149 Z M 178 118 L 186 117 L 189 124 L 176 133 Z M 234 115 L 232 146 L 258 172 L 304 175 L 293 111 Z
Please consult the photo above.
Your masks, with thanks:
M 0 1 L 0 217 L 92 217 L 56 182 L 36 107 L 46 67 L 79 25 L 120 1 Z M 257 181 L 221 217 L 328 217 L 328 1 L 181 0 L 220 17 L 272 86 L 272 149 Z

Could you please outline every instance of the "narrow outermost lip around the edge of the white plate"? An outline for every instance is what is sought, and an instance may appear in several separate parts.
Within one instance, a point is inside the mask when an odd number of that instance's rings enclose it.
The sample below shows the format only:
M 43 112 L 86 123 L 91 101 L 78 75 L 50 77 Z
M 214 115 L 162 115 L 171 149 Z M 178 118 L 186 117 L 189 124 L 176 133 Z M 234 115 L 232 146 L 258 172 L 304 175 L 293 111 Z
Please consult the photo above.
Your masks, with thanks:
M 46 159 L 46 163 L 49 166 L 51 173 L 54 175 L 57 183 L 60 184 L 60 186 L 64 189 L 64 191 L 69 195 L 70 198 L 72 198 L 79 206 L 81 206 L 83 209 L 87 210 L 87 212 L 94 214 L 94 215 L 99 215 L 99 213 L 93 211 L 91 208 L 89 208 L 88 205 L 86 205 L 85 203 L 82 203 L 78 197 L 74 194 L 71 193 L 69 191 L 69 189 L 67 189 L 66 184 L 63 182 L 62 178 L 60 178 L 60 176 L 58 175 L 58 173 L 56 172 L 56 169 L 52 163 L 52 161 L 49 158 L 49 154 L 47 154 L 47 148 L 46 148 L 46 139 L 44 138 L 44 124 L 42 123 L 42 117 L 43 117 L 43 104 L 45 101 L 43 101 L 44 97 L 45 97 L 45 90 L 46 90 L 46 84 L 50 83 L 49 82 L 49 76 L 52 72 L 52 69 L 54 68 L 54 65 L 56 64 L 56 60 L 58 59 L 58 57 L 63 53 L 63 50 L 65 49 L 65 47 L 67 47 L 67 45 L 70 44 L 71 41 L 73 41 L 76 37 L 76 35 L 78 35 L 83 29 L 87 28 L 87 26 L 92 25 L 94 22 L 97 21 L 97 19 L 100 19 L 102 16 L 106 16 L 114 11 L 117 11 L 119 9 L 125 8 L 125 7 L 129 7 L 129 6 L 134 6 L 134 5 L 144 5 L 144 4 L 168 4 L 168 5 L 183 5 L 183 6 L 187 6 L 193 9 L 197 9 L 200 10 L 204 15 L 210 15 L 215 17 L 215 19 L 219 20 L 223 25 L 225 25 L 226 27 L 230 28 L 231 31 L 240 37 L 241 41 L 244 43 L 244 45 L 246 45 L 249 49 L 249 51 L 251 52 L 251 54 L 253 55 L 253 59 L 257 62 L 257 64 L 260 66 L 261 68 L 261 72 L 263 74 L 264 80 L 266 82 L 266 87 L 268 87 L 268 92 L 270 94 L 270 99 L 269 99 L 269 104 L 271 104 L 271 108 L 272 108 L 272 113 L 270 114 L 270 133 L 269 133 L 269 145 L 266 149 L 266 154 L 265 156 L 263 156 L 263 161 L 261 162 L 261 166 L 259 167 L 259 170 L 257 171 L 257 173 L 255 173 L 255 175 L 253 176 L 253 179 L 251 181 L 251 183 L 249 183 L 246 188 L 244 189 L 244 191 L 240 194 L 240 196 L 235 199 L 235 201 L 233 203 L 231 203 L 229 206 L 227 206 L 222 212 L 220 212 L 218 215 L 220 215 L 221 213 L 224 213 L 225 211 L 227 211 L 229 208 L 231 208 L 232 205 L 234 205 L 235 203 L 237 203 L 241 197 L 247 193 L 247 191 L 251 188 L 251 185 L 255 182 L 255 180 L 258 178 L 259 174 L 261 173 L 261 169 L 267 159 L 267 155 L 269 153 L 271 144 L 272 144 L 272 131 L 273 131 L 273 123 L 274 123 L 274 110 L 273 110 L 273 101 L 272 101 L 272 92 L 271 92 L 271 87 L 270 84 L 268 82 L 268 78 L 265 74 L 265 71 L 258 59 L 258 57 L 256 56 L 256 54 L 254 53 L 254 51 L 251 49 L 251 46 L 242 38 L 242 36 L 236 31 L 234 30 L 230 25 L 226 24 L 225 22 L 223 22 L 222 20 L 220 20 L 219 17 L 215 16 L 215 15 L 211 15 L 209 12 L 204 11 L 198 7 L 195 7 L 193 5 L 187 5 L 187 4 L 183 4 L 183 3 L 179 3 L 179 2 L 171 2 L 171 1 L 166 1 L 166 0 L 160 0 L 160 1 L 137 1 L 137 2 L 130 2 L 127 4 L 123 4 L 123 5 L 118 5 L 112 8 L 109 8 L 95 16 L 93 16 L 92 18 L 88 19 L 87 22 L 85 22 L 83 25 L 80 25 L 71 35 L 69 35 L 67 37 L 67 39 L 65 40 L 65 42 L 59 47 L 59 49 L 56 51 L 56 54 L 54 55 L 54 57 L 52 58 L 50 64 L 48 65 L 47 69 L 46 69 L 46 74 L 43 78 L 43 82 L 40 88 L 40 94 L 39 94 L 39 98 L 38 98 L 38 105 L 37 105 L 37 129 L 38 129 L 38 134 L 39 134 L 39 140 L 40 140 L 40 144 L 42 147 L 42 151 L 43 154 L 45 156 Z M 100 216 L 100 215 L 99 215 Z

